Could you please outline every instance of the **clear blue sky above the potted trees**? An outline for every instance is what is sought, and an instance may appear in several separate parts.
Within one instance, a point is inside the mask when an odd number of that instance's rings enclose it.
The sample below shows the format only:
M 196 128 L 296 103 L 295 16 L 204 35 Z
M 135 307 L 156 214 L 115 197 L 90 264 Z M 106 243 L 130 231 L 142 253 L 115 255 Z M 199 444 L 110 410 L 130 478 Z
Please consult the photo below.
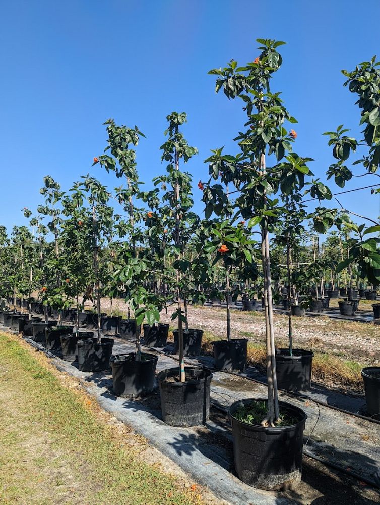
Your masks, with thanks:
M 89 171 L 118 185 L 113 174 L 91 168 L 109 117 L 146 134 L 137 161 L 149 185 L 165 170 L 159 146 L 174 110 L 187 112 L 184 133 L 199 149 L 187 168 L 201 212 L 196 184 L 207 178 L 203 160 L 222 145 L 235 154 L 231 139 L 244 121 L 239 101 L 216 95 L 207 72 L 231 58 L 252 61 L 258 37 L 288 42 L 272 89 L 283 92 L 299 121 L 297 152 L 314 158 L 311 168 L 323 178 L 332 154 L 321 134 L 340 123 L 360 131 L 340 70 L 380 54 L 378 0 L 12 0 L 2 2 L 0 16 L 0 224 L 9 230 L 26 223 L 23 207 L 40 203 L 47 174 L 63 189 Z M 347 188 L 377 179 L 354 179 Z M 368 190 L 341 201 L 380 214 L 379 197 Z

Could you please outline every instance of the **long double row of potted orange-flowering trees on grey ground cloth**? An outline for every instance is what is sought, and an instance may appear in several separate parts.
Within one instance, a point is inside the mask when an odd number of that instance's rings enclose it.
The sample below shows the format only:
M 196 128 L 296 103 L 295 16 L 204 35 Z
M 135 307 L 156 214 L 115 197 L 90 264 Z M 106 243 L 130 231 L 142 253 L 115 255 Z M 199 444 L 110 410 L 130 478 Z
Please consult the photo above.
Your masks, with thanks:
M 302 283 L 309 288 L 315 279 L 320 280 L 321 272 L 327 268 L 317 259 L 313 271 L 292 267 L 297 237 L 305 232 L 307 219 L 313 221 L 319 233 L 332 226 L 351 230 L 354 238 L 347 240 L 347 258 L 338 264 L 336 271 L 355 268 L 358 275 L 373 286 L 380 282 L 380 255 L 378 239 L 372 235 L 380 231 L 380 225 L 377 222 L 369 227 L 356 225 L 346 209 L 318 206 L 310 212 L 305 208 L 305 196 L 320 203 L 332 200 L 333 195 L 324 183 L 313 178 L 308 166 L 312 159 L 293 151 L 297 134 L 285 126 L 293 125 L 296 120 L 284 107 L 279 93 L 270 88 L 272 77 L 282 64 L 277 49 L 283 42 L 258 41 L 260 54 L 254 61 L 239 67 L 232 60 L 226 67 L 210 71 L 217 78 L 216 91 L 223 90 L 229 99 L 240 97 L 247 117 L 235 138 L 238 154 L 226 155 L 218 148 L 206 160 L 209 179 L 198 184 L 205 203 L 205 219 L 200 219 L 193 211 L 192 177 L 182 171 L 182 165 L 197 153 L 181 131 L 186 114 L 173 112 L 167 116 L 166 140 L 161 146 L 166 173 L 153 180 L 154 189 L 149 191 L 141 190 L 137 173 L 135 147 L 144 137 L 143 133 L 138 127 L 118 126 L 108 120 L 105 123 L 107 146 L 104 154 L 94 158 L 94 166 L 114 172 L 121 186 L 110 192 L 88 174 L 66 194 L 51 177 L 45 178 L 41 190 L 45 204 L 39 207 L 36 215 L 29 209 L 24 210 L 25 215 L 32 218 L 31 226 L 37 236 L 39 258 L 38 267 L 34 268 L 39 272 L 38 285 L 42 286 L 40 299 L 45 321 L 30 323 L 31 288 L 35 282 L 32 264 L 28 263 L 27 267 L 31 268 L 29 282 L 19 292 L 28 297 L 27 324 L 32 328 L 42 325 L 47 345 L 57 345 L 59 336 L 62 352 L 65 349 L 66 357 L 71 359 L 75 352 L 83 371 L 102 370 L 110 361 L 114 392 L 118 395 L 139 395 L 152 390 L 157 356 L 142 351 L 140 336 L 144 331 L 145 342 L 155 345 L 160 343 L 161 337 L 164 340 L 168 328 L 159 322 L 160 312 L 172 307 L 172 320 L 178 326 L 174 345 L 179 366 L 158 374 L 162 415 L 170 425 L 193 426 L 208 418 L 212 373 L 185 366 L 185 355 L 198 349 L 202 338 L 202 330 L 189 327 L 189 301 L 205 301 L 205 291 L 214 286 L 213 266 L 220 265 L 225 276 L 227 338 L 215 343 L 215 360 L 219 368 L 243 368 L 246 340 L 231 338 L 230 302 L 239 294 L 231 289 L 231 276 L 238 270 L 239 281 L 248 286 L 260 279 L 266 321 L 268 394 L 265 400 L 233 403 L 229 415 L 239 478 L 256 487 L 279 489 L 286 482 L 294 484 L 301 479 L 306 415 L 301 409 L 280 402 L 278 388 L 304 390 L 310 387 L 312 352 L 293 347 L 291 311 L 289 346 L 286 349 L 275 346 L 273 274 L 276 275 L 276 269 L 271 264 L 273 242 L 271 245 L 270 235 L 281 221 L 281 234 L 276 240 L 286 248 L 284 268 L 290 305 L 291 286 Z M 368 154 L 362 163 L 369 172 L 375 172 L 380 160 L 378 114 L 373 112 L 376 108 L 372 111 L 370 104 L 373 102 L 367 96 L 379 85 L 375 61 L 361 64 L 354 72 L 347 73 L 347 77 L 350 90 L 360 96 L 362 123 L 367 125 Z M 357 85 L 363 80 L 368 81 L 365 93 L 362 85 Z M 339 185 L 349 180 L 349 174 L 352 177 L 344 162 L 358 145 L 355 139 L 345 135 L 346 131 L 340 126 L 336 132 L 328 132 L 337 160 L 329 167 L 328 177 L 334 177 Z M 114 205 L 121 206 L 120 213 L 115 212 Z M 48 221 L 47 225 L 42 218 Z M 52 241 L 47 240 L 49 232 Z M 25 232 L 23 243 L 27 239 Z M 186 254 L 190 242 L 194 245 L 191 258 Z M 22 251 L 26 254 L 25 245 Z M 25 269 L 23 263 L 23 278 Z M 16 278 L 19 272 L 7 271 L 9 275 L 3 275 L 2 282 L 21 286 L 20 279 Z M 199 289 L 200 285 L 204 290 Z M 113 340 L 103 336 L 107 328 L 101 313 L 102 293 L 108 295 L 111 304 L 120 293 L 128 301 L 131 313 L 127 321 L 134 325 L 132 334 L 136 338 L 134 352 L 112 355 Z M 174 300 L 167 293 L 174 293 Z M 248 291 L 246 295 L 245 302 L 250 301 L 251 293 Z M 294 296 L 297 298 L 296 292 Z M 75 335 L 72 327 L 69 329 L 61 324 L 64 311 L 70 308 L 73 300 L 76 302 Z M 80 314 L 86 300 L 93 301 L 95 308 L 91 316 L 96 325 L 95 338 L 79 331 Z M 49 320 L 48 308 L 56 311 L 56 321 Z M 148 326 L 143 326 L 144 323 Z M 65 347 L 67 341 L 71 354 Z M 289 381 L 289 377 L 297 375 L 304 380 Z M 378 368 L 363 370 L 363 377 L 371 384 L 377 383 Z M 365 384 L 367 393 L 367 382 Z M 368 396 L 367 405 L 369 412 L 372 408 L 380 410 L 370 403 Z

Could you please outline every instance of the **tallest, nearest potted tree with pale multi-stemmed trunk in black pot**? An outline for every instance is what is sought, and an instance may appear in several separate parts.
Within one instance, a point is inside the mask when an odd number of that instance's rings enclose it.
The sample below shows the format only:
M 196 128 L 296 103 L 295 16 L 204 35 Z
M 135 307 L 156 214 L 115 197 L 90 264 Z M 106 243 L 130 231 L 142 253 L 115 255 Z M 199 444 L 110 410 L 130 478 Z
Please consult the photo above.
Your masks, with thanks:
M 237 401 L 230 406 L 235 469 L 245 483 L 273 490 L 301 479 L 306 415 L 278 401 L 269 231 L 283 209 L 272 194 L 280 190 L 286 195 L 293 188 L 301 189 L 309 169 L 307 159 L 291 153 L 296 133 L 288 132 L 283 124 L 295 120 L 282 105 L 279 94 L 269 87 L 272 74 L 282 63 L 277 47 L 283 42 L 258 41 L 262 44 L 261 54 L 255 61 L 238 67 L 232 60 L 210 73 L 217 76 L 217 92 L 223 89 L 228 98 L 240 96 L 245 102 L 247 122 L 236 137 L 240 154 L 232 161 L 239 168 L 236 205 L 249 229 L 260 226 L 264 280 L 268 398 Z M 274 154 L 278 161 L 271 169 L 266 167 L 267 154 Z M 280 163 L 284 157 L 286 161 Z

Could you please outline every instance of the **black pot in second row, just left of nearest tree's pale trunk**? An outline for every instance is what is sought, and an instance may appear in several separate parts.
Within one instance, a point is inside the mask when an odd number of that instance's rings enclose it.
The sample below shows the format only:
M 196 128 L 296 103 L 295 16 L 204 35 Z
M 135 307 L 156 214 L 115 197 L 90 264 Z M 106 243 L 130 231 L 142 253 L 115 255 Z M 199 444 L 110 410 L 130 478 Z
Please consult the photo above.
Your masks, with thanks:
M 215 368 L 218 370 L 244 370 L 247 366 L 247 343 L 247 338 L 214 342 Z

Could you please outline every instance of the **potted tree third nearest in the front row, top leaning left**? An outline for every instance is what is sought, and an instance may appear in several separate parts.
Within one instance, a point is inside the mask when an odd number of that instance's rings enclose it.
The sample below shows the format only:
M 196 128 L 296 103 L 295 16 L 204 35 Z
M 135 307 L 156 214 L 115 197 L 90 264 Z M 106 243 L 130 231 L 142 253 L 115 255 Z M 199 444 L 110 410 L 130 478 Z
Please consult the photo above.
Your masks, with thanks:
M 118 126 L 110 119 L 107 120 L 108 146 L 105 149 L 110 154 L 105 154 L 94 159 L 100 163 L 107 172 L 112 170 L 116 177 L 123 178 L 125 186 L 116 188 L 116 197 L 127 213 L 129 222 L 119 220 L 117 224 L 120 237 L 127 236 L 118 248 L 118 258 L 115 269 L 115 288 L 122 285 L 125 290 L 125 301 L 132 306 L 135 319 L 133 321 L 136 336 L 136 351 L 112 356 L 113 392 L 116 396 L 141 396 L 153 389 L 153 381 L 158 357 L 148 352 L 141 352 L 141 325 L 146 319 L 152 323 L 159 319 L 156 300 L 145 289 L 145 275 L 150 270 L 149 257 L 144 254 L 141 246 L 143 233 L 139 227 L 142 212 L 135 209 L 133 197 L 140 194 L 138 172 L 136 169 L 136 151 L 132 148 L 139 142 L 144 134 L 135 127 Z M 158 304 L 160 305 L 160 304 Z

